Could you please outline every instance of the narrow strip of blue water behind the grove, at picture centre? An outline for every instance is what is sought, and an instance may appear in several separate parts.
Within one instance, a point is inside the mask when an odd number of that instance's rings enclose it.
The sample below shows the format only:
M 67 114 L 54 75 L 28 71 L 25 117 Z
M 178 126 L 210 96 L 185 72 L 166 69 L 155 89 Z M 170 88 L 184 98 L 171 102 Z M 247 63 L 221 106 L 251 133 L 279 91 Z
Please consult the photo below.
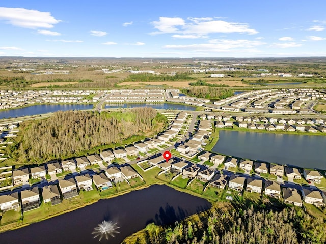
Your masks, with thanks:
M 196 107 L 193 106 L 188 106 L 183 104 L 172 104 L 172 103 L 123 103 L 123 104 L 105 105 L 105 108 L 135 108 L 135 107 L 152 107 L 154 109 L 189 110 L 189 111 L 196 110 Z

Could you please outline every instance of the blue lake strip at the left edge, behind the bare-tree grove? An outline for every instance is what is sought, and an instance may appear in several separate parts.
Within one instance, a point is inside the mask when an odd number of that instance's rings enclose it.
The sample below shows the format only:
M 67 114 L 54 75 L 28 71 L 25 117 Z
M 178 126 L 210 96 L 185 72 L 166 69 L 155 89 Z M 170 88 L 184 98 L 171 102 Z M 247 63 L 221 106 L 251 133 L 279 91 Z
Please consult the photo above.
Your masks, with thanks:
M 42 104 L 0 111 L 0 119 L 32 116 L 67 110 L 92 109 L 93 104 Z

